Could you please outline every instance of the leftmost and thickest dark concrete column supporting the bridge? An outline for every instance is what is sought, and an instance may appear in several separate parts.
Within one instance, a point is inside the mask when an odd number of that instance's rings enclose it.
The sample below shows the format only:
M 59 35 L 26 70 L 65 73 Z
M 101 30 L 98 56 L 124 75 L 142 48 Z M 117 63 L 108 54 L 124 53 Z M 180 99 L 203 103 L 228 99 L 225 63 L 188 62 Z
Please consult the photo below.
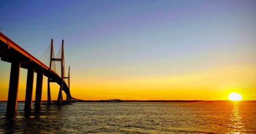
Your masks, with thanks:
M 21 64 L 18 62 L 11 63 L 11 74 L 9 82 L 7 112 L 14 112 L 17 110 L 17 98 L 18 98 L 18 80 L 19 80 L 19 68 Z

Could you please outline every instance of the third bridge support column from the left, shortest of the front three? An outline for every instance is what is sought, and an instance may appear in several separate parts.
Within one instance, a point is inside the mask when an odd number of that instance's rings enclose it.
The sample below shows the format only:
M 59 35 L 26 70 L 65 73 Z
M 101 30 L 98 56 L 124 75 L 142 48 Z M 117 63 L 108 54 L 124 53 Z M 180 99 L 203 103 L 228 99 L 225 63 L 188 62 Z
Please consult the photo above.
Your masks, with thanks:
M 35 108 L 42 106 L 42 88 L 43 88 L 43 73 L 37 73 L 36 91 L 35 91 Z

